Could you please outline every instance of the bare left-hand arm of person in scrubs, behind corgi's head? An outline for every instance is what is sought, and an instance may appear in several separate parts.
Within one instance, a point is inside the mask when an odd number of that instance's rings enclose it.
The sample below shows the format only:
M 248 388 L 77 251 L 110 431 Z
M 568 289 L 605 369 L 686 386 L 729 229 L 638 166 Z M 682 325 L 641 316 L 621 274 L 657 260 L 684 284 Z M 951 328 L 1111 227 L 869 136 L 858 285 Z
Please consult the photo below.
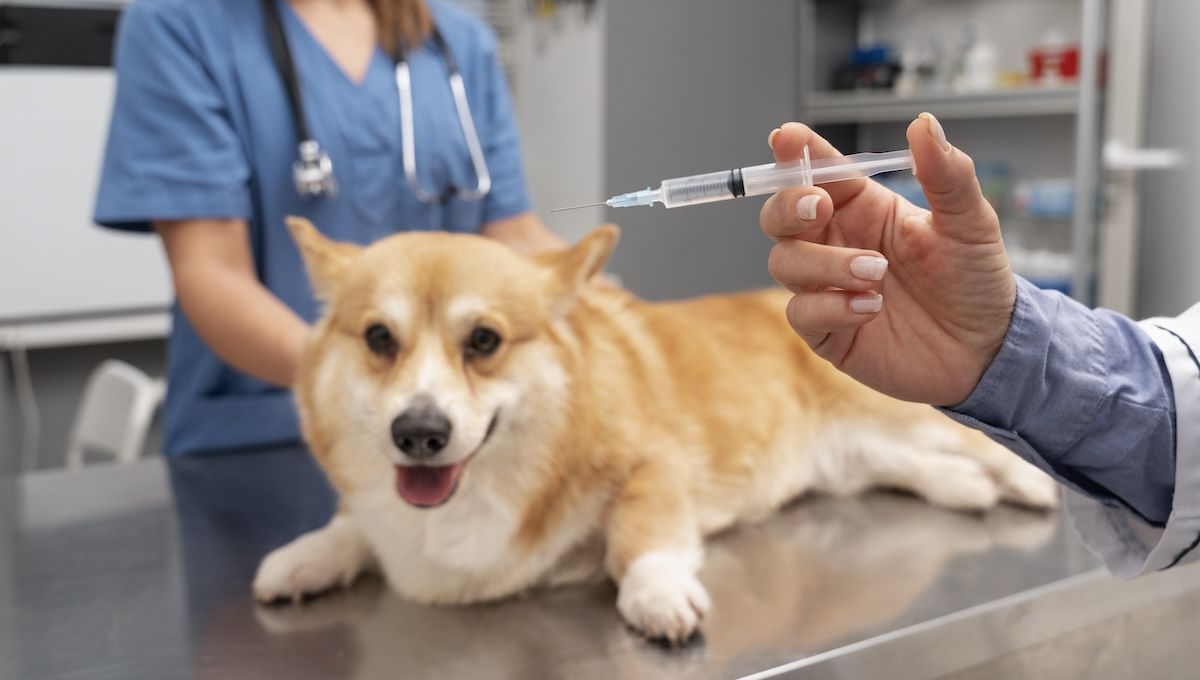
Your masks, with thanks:
M 290 387 L 308 325 L 254 276 L 244 219 L 155 222 L 175 296 L 226 363 Z

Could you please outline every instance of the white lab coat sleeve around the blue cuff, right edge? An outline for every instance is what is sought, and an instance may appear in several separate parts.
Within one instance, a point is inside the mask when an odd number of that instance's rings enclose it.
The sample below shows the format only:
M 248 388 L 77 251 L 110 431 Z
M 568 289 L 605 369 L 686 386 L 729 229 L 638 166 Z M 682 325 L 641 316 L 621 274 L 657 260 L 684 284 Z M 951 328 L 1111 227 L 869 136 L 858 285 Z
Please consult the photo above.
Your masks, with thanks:
M 1162 528 L 1067 489 L 1075 531 L 1115 574 L 1130 578 L 1200 560 L 1200 305 L 1140 323 L 1162 351 L 1175 395 L 1175 494 Z

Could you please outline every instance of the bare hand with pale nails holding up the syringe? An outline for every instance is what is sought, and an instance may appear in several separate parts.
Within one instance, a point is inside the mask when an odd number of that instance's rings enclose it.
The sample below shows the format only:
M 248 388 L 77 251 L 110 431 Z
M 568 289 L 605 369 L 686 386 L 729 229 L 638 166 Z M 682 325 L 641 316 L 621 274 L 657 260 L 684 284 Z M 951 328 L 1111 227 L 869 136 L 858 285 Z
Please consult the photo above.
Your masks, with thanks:
M 817 354 L 881 392 L 953 405 L 1000 350 L 1016 284 L 974 163 L 930 114 L 907 137 L 931 211 L 852 179 L 776 193 L 760 223 L 772 276 L 796 294 L 787 319 Z M 838 156 L 800 124 L 772 146 L 781 163 Z

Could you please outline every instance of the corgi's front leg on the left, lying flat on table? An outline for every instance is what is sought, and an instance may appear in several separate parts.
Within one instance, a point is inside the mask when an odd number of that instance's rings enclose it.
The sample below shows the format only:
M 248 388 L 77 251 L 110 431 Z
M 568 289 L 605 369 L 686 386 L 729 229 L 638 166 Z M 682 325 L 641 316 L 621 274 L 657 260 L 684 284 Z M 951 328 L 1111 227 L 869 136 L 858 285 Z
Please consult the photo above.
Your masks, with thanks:
M 324 528 L 272 550 L 258 565 L 254 597 L 259 602 L 290 600 L 346 586 L 374 567 L 374 554 L 354 519 L 338 512 Z

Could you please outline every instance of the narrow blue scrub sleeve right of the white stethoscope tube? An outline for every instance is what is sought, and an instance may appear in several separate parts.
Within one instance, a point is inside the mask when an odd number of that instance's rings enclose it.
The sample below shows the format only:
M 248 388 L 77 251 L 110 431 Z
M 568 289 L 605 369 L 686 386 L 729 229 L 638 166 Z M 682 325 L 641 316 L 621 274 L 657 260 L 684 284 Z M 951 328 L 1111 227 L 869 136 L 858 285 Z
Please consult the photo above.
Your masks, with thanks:
M 508 78 L 497 54 L 496 36 L 481 30 L 481 53 L 486 74 L 485 116 L 486 124 L 480 144 L 492 174 L 492 191 L 484 205 L 484 224 L 529 212 L 529 193 L 526 188 L 524 166 L 521 160 L 521 134 L 512 110 Z

